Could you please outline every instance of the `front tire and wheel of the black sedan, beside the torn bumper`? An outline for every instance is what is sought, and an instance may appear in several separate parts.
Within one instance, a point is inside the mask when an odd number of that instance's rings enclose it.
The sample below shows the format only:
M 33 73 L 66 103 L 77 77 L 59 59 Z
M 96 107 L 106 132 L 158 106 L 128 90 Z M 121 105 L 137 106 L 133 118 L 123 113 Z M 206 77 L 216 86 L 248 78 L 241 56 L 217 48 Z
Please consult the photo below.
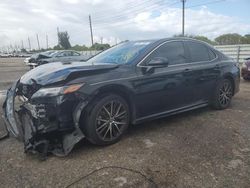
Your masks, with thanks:
M 120 96 L 98 97 L 85 112 L 82 127 L 87 139 L 96 145 L 110 145 L 122 137 L 129 125 L 129 107 Z

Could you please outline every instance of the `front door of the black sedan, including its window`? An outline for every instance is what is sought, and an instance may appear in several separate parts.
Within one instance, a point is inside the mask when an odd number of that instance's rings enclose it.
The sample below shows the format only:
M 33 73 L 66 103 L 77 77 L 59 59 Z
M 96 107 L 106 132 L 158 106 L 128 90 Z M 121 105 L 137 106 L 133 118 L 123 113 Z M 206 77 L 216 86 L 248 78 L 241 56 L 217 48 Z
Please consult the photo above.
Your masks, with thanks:
M 151 67 L 154 58 L 165 58 L 168 65 Z M 187 54 L 182 41 L 161 44 L 137 65 L 138 78 L 134 80 L 137 118 L 165 113 L 189 105 L 190 83 L 185 79 Z

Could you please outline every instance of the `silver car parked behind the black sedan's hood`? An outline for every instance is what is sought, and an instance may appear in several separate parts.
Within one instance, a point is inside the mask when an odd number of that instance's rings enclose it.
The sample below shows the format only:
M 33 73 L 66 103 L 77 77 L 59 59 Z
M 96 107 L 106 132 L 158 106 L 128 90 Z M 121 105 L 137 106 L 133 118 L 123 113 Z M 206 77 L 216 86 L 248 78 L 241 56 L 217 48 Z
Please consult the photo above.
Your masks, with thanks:
M 52 62 L 73 62 L 73 61 L 86 61 L 90 56 L 81 55 L 73 50 L 60 50 L 50 54 L 47 57 L 41 58 L 36 61 L 35 66 L 52 63 Z

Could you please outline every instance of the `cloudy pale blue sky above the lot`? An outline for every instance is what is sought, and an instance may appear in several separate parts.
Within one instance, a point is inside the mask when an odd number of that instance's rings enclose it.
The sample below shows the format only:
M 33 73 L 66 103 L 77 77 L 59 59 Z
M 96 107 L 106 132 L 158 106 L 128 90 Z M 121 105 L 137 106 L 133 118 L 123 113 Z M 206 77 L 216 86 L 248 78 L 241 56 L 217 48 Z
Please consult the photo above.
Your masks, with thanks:
M 250 0 L 186 0 L 185 34 L 210 39 L 225 33 L 250 33 Z M 123 40 L 171 37 L 182 30 L 180 0 L 1 0 L 0 49 L 37 49 L 57 44 L 57 27 L 72 45 L 114 45 Z

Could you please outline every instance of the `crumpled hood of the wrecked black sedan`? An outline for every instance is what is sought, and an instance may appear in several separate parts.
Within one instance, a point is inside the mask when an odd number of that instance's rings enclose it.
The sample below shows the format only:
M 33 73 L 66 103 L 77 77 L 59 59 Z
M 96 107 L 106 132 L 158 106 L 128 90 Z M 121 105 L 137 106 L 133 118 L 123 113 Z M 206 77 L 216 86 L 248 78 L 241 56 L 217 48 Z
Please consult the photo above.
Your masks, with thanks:
M 48 85 L 66 80 L 69 75 L 81 72 L 81 77 L 92 71 L 114 69 L 117 64 L 103 63 L 94 64 L 92 62 L 71 62 L 71 63 L 49 63 L 36 67 L 24 74 L 20 82 L 23 84 Z

